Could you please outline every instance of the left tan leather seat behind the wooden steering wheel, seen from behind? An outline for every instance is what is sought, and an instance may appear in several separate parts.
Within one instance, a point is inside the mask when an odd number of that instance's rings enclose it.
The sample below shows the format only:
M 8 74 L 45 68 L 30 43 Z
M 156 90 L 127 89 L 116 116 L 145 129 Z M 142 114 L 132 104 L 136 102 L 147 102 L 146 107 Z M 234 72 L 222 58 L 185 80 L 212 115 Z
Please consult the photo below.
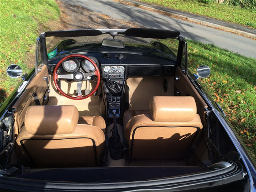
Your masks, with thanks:
M 30 106 L 16 139 L 19 149 L 37 168 L 98 166 L 105 134 L 78 118 L 75 106 Z

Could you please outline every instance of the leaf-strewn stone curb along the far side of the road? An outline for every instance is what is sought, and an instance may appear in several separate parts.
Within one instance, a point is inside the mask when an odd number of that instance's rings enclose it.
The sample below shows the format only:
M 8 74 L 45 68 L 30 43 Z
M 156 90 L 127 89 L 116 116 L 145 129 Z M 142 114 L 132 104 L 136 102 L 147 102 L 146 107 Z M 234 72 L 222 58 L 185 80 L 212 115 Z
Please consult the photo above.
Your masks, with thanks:
M 157 12 L 160 12 L 160 13 L 163 13 L 163 14 L 173 16 L 175 18 L 186 19 L 189 22 L 198 23 L 198 24 L 201 24 L 201 25 L 204 25 L 204 26 L 213 27 L 215 29 L 220 29 L 220 30 L 228 31 L 228 32 L 235 33 L 235 34 L 238 34 L 238 35 L 240 34 L 240 35 L 243 35 L 243 36 L 246 36 L 246 37 L 256 39 L 256 34 L 253 34 L 253 33 L 248 33 L 248 32 L 233 29 L 233 28 L 230 28 L 230 27 L 225 27 L 225 26 L 218 25 L 218 24 L 215 24 L 215 23 L 211 23 L 211 22 L 191 18 L 191 17 L 185 16 L 185 15 L 175 14 L 175 13 L 170 12 L 170 11 L 165 11 L 165 10 L 149 7 L 149 6 L 143 5 L 142 3 L 137 2 L 137 1 L 136 2 L 129 1 L 129 0 L 116 0 L 116 1 L 119 1 L 120 3 L 124 3 L 124 4 L 125 3 L 132 4 L 135 7 L 144 8 L 144 9 L 149 10 L 149 11 L 157 11 Z

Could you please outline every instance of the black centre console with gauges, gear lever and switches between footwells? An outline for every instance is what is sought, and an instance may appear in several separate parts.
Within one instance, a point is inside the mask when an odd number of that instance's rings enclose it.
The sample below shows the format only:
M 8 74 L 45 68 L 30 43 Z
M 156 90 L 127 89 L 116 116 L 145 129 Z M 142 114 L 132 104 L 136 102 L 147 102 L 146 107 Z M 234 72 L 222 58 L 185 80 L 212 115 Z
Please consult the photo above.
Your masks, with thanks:
M 107 102 L 107 117 L 121 117 L 125 86 L 125 67 L 118 65 L 102 66 L 102 79 Z

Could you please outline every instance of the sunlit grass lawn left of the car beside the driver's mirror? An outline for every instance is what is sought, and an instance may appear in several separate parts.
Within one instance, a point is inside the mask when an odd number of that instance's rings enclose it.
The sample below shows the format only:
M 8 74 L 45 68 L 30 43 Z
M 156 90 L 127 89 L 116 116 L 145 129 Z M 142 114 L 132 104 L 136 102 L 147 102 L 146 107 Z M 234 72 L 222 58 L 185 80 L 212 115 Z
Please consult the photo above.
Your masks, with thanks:
M 6 75 L 10 64 L 18 64 L 23 72 L 34 67 L 29 55 L 35 55 L 35 40 L 39 27 L 56 20 L 60 10 L 54 0 L 1 0 L 0 1 L 0 103 L 19 83 Z

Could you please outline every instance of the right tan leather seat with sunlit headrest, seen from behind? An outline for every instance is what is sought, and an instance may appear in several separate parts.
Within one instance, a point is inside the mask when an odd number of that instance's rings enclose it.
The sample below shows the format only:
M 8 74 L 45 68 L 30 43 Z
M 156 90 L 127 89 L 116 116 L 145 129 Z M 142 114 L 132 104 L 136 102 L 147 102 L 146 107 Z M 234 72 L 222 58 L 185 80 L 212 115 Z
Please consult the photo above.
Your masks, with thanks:
M 135 113 L 130 118 L 132 113 L 125 113 L 124 135 L 133 159 L 184 158 L 203 128 L 190 96 L 155 96 L 150 100 L 150 113 Z

